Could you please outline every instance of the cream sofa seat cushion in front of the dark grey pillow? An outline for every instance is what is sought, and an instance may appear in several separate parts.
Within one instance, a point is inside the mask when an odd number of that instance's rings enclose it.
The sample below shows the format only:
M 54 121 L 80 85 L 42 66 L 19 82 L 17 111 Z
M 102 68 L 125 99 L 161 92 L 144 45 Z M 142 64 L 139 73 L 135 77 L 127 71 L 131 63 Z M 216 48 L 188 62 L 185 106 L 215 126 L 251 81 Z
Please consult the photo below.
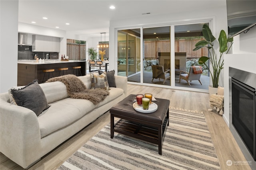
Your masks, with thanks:
M 38 116 L 41 138 L 74 123 L 95 107 L 84 99 L 65 98 L 52 103 L 49 109 Z

